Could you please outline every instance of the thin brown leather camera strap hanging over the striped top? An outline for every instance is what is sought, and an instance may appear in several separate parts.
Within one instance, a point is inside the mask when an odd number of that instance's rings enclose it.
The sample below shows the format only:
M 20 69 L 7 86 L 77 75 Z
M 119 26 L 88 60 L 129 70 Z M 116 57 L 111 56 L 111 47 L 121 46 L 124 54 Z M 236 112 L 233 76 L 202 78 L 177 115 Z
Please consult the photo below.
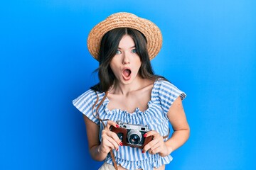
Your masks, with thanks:
M 93 108 L 95 108 L 97 102 L 99 101 L 99 96 L 98 96 L 98 94 L 97 94 L 96 91 L 95 91 L 95 93 L 96 93 L 96 95 L 97 95 L 97 99 L 96 99 L 95 104 L 92 106 L 92 111 L 93 111 Z M 99 110 L 100 106 L 102 105 L 102 103 L 105 101 L 105 98 L 107 98 L 107 94 L 108 94 L 108 91 L 105 92 L 105 95 L 104 95 L 104 97 L 102 98 L 102 101 L 100 101 L 99 105 L 97 106 L 96 111 L 95 111 L 95 112 L 96 112 L 96 113 L 95 113 L 96 115 L 92 114 L 95 118 L 97 118 L 97 120 L 100 120 L 100 123 L 102 123 L 102 125 L 103 125 L 104 128 L 106 127 L 106 125 L 105 125 L 105 123 L 104 123 L 103 121 L 104 121 L 104 120 L 109 120 L 109 119 L 101 119 L 101 118 L 100 118 L 100 114 L 98 113 L 98 110 Z M 168 135 L 163 136 L 163 139 L 166 139 L 167 137 L 169 137 L 169 134 L 170 134 L 170 128 L 168 128 Z M 116 160 L 114 159 L 114 152 L 113 152 L 112 149 L 110 150 L 110 155 L 111 155 L 111 158 L 112 158 L 112 162 L 114 163 L 114 169 L 118 170 L 117 162 L 116 162 Z

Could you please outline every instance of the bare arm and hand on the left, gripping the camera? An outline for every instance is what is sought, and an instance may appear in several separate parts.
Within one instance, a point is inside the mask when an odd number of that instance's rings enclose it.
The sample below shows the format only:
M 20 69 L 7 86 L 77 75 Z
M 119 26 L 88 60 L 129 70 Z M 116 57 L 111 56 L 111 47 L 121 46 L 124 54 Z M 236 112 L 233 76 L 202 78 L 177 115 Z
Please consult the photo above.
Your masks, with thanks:
M 109 130 L 110 125 L 116 126 L 113 121 L 108 121 L 107 126 L 102 130 L 102 142 L 100 142 L 100 127 L 92 120 L 83 115 L 86 125 L 88 145 L 92 159 L 103 161 L 111 149 L 118 149 L 120 140 L 114 132 Z

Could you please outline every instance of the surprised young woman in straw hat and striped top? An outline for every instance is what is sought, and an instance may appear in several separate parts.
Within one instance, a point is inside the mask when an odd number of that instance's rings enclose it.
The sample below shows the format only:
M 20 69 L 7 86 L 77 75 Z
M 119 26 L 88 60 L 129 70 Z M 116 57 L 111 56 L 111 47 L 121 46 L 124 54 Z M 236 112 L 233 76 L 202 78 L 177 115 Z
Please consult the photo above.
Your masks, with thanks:
M 171 152 L 188 140 L 181 102 L 186 94 L 151 68 L 161 44 L 159 28 L 132 13 L 112 14 L 88 36 L 100 82 L 73 105 L 84 115 L 91 157 L 105 160 L 100 169 L 165 169 Z M 143 137 L 151 140 L 142 148 L 124 146 L 127 139 L 112 131 L 120 128 L 117 122 L 149 128 Z

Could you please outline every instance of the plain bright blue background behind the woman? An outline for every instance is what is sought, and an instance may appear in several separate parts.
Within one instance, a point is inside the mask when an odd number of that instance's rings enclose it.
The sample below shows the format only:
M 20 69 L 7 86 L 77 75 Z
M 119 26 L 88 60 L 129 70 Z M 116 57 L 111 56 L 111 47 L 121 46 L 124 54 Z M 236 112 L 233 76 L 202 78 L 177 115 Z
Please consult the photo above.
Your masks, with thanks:
M 188 95 L 191 137 L 166 169 L 256 169 L 254 0 L 5 1 L 0 169 L 97 169 L 72 100 L 97 82 L 87 35 L 112 13 L 154 21 L 154 71 Z

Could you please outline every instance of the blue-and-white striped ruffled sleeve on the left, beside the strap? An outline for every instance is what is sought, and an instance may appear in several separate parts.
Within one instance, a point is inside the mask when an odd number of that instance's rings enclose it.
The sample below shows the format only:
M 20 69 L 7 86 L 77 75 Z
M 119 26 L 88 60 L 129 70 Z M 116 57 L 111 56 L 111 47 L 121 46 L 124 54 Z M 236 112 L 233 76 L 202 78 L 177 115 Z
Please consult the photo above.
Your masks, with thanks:
M 97 95 L 95 94 L 95 91 L 88 90 L 78 98 L 75 98 L 75 100 L 73 100 L 73 105 L 78 108 L 82 114 L 86 115 L 87 118 L 97 125 L 100 125 L 100 121 L 93 115 L 93 113 L 95 113 L 95 108 L 92 110 L 92 106 L 95 104 L 96 100 Z

